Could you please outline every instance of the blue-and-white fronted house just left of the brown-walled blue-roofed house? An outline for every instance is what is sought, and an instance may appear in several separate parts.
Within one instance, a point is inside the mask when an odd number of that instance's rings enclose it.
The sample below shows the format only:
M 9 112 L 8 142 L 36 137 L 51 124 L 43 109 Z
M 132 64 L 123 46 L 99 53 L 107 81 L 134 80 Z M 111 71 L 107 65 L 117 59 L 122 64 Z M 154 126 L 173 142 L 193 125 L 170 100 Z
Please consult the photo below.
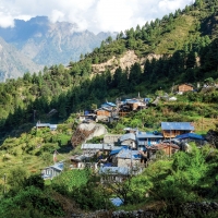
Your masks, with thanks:
M 137 150 L 146 150 L 146 146 L 159 144 L 164 140 L 164 135 L 159 133 L 137 132 L 136 135 Z

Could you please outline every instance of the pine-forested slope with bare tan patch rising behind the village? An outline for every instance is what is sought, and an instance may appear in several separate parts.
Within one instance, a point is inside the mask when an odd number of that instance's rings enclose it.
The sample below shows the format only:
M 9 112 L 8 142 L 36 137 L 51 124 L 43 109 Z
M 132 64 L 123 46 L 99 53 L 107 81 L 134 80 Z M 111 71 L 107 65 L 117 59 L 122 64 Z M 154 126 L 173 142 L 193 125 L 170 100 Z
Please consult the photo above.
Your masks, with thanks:
M 183 11 L 177 10 L 162 20 L 126 29 L 124 34 L 118 34 L 116 40 L 108 37 L 99 48 L 81 57 L 77 62 L 71 61 L 68 68 L 52 65 L 40 74 L 26 73 L 23 80 L 0 84 L 1 132 L 4 134 L 23 122 L 33 123 L 36 121 L 33 119 L 34 110 L 35 119 L 46 121 L 51 119 L 47 117 L 49 111 L 56 109 L 58 112 L 52 119 L 59 122 L 71 112 L 90 109 L 93 104 L 99 106 L 105 99 L 136 96 L 138 93 L 146 96 L 157 89 L 169 93 L 180 83 L 193 83 L 195 87 L 197 84 L 203 86 L 205 80 L 216 83 L 218 39 L 215 5 L 216 1 L 203 1 L 201 7 L 194 4 Z M 28 38 L 43 29 L 48 35 L 47 28 L 40 28 L 45 22 L 50 25 L 46 17 L 21 23 L 38 26 L 31 31 Z M 76 26 L 71 25 L 71 28 Z M 12 36 L 8 36 L 11 41 Z M 24 43 L 22 37 L 20 40 Z

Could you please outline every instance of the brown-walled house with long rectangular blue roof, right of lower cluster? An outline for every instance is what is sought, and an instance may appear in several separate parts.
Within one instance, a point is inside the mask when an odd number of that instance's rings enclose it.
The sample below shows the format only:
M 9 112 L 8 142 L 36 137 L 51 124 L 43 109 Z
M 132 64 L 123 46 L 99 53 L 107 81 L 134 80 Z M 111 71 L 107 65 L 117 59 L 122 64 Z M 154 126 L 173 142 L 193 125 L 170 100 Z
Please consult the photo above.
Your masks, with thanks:
M 178 135 L 192 133 L 194 125 L 191 122 L 161 122 L 161 131 L 165 138 L 174 138 Z

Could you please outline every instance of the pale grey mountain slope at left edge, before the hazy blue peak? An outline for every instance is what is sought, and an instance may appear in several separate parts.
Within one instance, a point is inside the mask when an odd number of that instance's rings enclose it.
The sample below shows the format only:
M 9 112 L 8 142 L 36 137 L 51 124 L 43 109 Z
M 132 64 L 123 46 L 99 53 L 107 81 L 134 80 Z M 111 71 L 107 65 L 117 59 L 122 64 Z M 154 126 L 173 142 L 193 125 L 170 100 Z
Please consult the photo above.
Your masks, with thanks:
M 0 82 L 23 76 L 25 72 L 38 72 L 43 66 L 34 63 L 0 37 Z

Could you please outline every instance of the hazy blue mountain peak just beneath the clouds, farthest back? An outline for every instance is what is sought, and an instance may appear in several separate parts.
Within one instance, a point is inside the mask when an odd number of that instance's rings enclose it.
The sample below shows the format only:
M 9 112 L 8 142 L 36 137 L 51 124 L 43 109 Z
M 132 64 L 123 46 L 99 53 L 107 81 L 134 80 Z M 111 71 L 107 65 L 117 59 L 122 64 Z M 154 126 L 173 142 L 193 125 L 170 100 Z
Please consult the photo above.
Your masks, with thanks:
M 0 36 L 35 63 L 48 66 L 77 61 L 81 53 L 93 51 L 111 35 L 81 32 L 75 23 L 51 23 L 47 16 L 14 22 L 13 28 L 0 28 Z

